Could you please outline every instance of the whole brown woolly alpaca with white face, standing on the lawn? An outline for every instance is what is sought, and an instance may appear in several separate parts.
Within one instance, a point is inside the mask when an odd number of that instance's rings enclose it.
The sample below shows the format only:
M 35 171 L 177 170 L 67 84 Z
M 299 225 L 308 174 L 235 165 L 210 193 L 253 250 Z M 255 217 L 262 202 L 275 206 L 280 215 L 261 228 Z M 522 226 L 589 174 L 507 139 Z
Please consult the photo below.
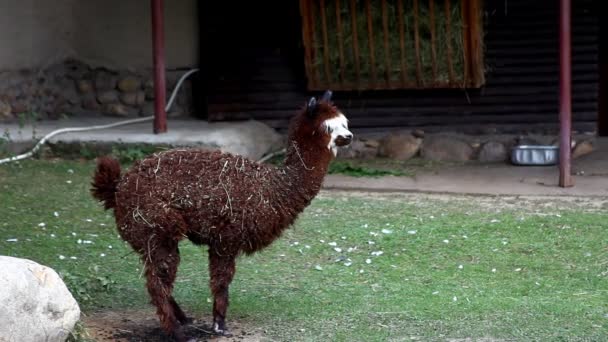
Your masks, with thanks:
M 173 149 L 120 165 L 98 160 L 93 196 L 114 209 L 120 236 L 140 253 L 163 329 L 185 341 L 188 318 L 171 295 L 184 238 L 209 246 L 213 329 L 225 334 L 236 258 L 279 238 L 319 192 L 339 146 L 352 139 L 327 91 L 291 121 L 285 163 L 259 164 L 219 151 Z

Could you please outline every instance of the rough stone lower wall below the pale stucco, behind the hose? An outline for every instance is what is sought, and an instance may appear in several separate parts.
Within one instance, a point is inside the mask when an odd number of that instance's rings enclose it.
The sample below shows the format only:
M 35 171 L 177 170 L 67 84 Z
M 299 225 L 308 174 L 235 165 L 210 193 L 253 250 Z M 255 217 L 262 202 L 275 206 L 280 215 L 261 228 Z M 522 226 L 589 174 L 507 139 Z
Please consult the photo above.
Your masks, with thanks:
M 167 72 L 167 100 L 186 71 Z M 23 115 L 58 119 L 73 115 L 137 117 L 154 114 L 154 82 L 151 69 L 133 71 L 93 67 L 66 60 L 35 71 L 0 72 L 0 121 Z M 192 113 L 192 82 L 179 90 L 169 117 Z

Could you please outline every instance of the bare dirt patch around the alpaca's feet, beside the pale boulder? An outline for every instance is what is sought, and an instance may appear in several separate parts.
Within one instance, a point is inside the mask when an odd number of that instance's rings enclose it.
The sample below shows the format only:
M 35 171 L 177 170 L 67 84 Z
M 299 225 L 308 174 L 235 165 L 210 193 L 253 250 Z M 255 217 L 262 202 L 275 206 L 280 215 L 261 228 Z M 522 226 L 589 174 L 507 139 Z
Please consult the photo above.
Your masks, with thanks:
M 260 331 L 234 319 L 227 322 L 232 336 L 212 333 L 211 317 L 199 317 L 184 327 L 186 336 L 196 341 L 254 342 L 263 341 Z M 96 342 L 165 342 L 173 341 L 160 328 L 153 310 L 96 312 L 82 318 L 87 340 Z

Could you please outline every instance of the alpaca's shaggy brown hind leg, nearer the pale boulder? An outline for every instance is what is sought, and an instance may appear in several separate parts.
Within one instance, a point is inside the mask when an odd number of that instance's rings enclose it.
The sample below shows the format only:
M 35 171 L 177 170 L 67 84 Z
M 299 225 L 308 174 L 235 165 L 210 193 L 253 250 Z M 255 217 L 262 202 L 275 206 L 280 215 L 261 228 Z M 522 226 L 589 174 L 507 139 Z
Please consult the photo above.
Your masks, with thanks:
M 146 285 L 152 304 L 156 307 L 156 314 L 163 330 L 173 335 L 178 342 L 186 341 L 179 319 L 176 317 L 175 305 L 173 305 L 175 300 L 171 296 L 180 260 L 177 242 L 151 245 L 153 248 L 146 251 L 144 257 Z

